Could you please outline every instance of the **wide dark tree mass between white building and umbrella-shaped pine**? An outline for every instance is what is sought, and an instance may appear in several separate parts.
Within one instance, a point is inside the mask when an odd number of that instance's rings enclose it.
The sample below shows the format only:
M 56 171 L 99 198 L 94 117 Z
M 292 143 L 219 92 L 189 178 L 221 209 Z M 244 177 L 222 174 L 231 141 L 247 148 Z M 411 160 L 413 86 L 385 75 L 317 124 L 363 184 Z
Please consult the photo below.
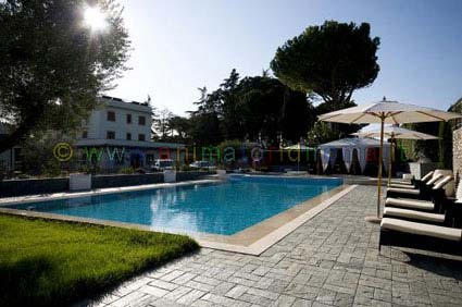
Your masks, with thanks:
M 302 91 L 294 90 L 267 72 L 240 78 L 233 70 L 220 87 L 200 98 L 190 118 L 172 116 L 176 140 L 217 145 L 223 140 L 262 140 L 277 145 L 279 137 L 292 143 L 305 137 L 315 121 L 313 106 Z

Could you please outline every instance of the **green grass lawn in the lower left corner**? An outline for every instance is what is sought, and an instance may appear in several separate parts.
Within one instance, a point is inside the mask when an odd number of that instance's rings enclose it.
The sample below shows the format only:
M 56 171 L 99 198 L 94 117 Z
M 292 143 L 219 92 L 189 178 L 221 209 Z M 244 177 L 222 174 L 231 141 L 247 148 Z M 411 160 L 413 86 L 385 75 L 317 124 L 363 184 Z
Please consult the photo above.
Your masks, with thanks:
M 187 236 L 0 214 L 0 306 L 62 306 L 196 250 Z

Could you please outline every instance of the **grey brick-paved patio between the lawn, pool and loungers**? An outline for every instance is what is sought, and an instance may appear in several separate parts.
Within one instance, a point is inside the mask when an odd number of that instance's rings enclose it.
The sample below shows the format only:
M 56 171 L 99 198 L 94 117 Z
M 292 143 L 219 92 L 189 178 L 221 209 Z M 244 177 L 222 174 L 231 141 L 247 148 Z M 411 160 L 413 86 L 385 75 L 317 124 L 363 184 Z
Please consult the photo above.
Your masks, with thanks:
M 462 306 L 462 260 L 384 247 L 359 186 L 260 257 L 201 249 L 97 306 Z M 438 256 L 438 255 L 436 255 Z

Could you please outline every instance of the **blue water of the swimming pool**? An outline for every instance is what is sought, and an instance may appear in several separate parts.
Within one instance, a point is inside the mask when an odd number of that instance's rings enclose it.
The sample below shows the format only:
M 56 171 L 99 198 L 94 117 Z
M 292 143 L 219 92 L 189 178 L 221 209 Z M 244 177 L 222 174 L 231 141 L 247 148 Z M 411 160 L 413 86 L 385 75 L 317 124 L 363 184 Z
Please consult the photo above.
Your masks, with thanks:
M 233 235 L 341 184 L 340 179 L 232 175 L 220 183 L 27 202 L 8 208 Z

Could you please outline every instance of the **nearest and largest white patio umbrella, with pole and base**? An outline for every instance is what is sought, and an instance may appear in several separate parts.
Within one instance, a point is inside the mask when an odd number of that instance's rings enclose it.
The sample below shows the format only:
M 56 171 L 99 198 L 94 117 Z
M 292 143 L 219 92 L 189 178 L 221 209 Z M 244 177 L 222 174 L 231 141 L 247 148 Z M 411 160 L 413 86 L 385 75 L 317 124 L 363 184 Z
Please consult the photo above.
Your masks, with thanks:
M 367 103 L 334 111 L 320 115 L 324 122 L 335 122 L 344 124 L 380 124 L 380 149 L 378 154 L 378 182 L 377 182 L 377 217 L 367 218 L 370 221 L 380 220 L 380 198 L 382 198 L 382 159 L 384 155 L 384 125 L 407 124 L 422 122 L 439 122 L 462 118 L 461 114 L 445 112 L 432 108 L 420 107 L 415 105 L 400 103 L 398 101 L 388 101 L 384 97 L 383 101 Z

